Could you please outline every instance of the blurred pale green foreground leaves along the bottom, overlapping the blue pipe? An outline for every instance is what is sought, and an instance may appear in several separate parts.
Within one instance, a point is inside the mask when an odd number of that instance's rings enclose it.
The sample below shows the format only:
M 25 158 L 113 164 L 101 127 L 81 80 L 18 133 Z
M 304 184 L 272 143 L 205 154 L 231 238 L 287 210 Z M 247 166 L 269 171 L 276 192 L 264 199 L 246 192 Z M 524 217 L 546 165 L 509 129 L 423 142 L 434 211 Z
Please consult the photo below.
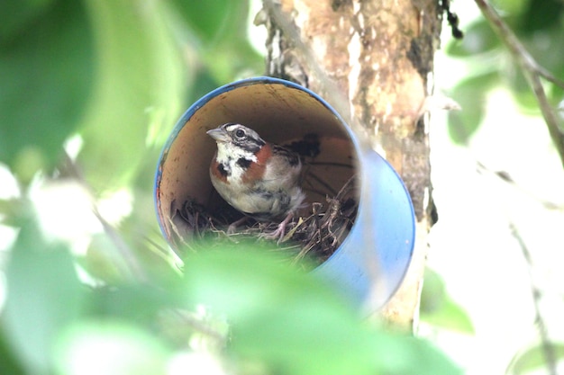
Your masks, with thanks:
M 6 269 L 2 366 L 165 374 L 185 355 L 184 371 L 205 373 L 188 355 L 204 355 L 205 347 L 225 373 L 459 372 L 423 340 L 366 326 L 350 301 L 275 254 L 239 244 L 192 254 L 184 276 L 171 269 L 173 277 L 160 280 L 88 288 L 65 246 L 26 219 Z

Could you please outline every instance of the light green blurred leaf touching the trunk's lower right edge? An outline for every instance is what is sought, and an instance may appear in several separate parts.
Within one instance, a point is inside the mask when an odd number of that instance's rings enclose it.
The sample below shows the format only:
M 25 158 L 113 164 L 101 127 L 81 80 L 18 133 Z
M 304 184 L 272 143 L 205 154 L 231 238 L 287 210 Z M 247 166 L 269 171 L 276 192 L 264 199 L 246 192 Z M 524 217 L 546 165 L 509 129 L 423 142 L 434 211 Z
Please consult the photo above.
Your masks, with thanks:
M 475 334 L 468 313 L 450 299 L 441 276 L 429 269 L 425 272 L 420 310 L 421 320 L 432 326 L 462 334 Z

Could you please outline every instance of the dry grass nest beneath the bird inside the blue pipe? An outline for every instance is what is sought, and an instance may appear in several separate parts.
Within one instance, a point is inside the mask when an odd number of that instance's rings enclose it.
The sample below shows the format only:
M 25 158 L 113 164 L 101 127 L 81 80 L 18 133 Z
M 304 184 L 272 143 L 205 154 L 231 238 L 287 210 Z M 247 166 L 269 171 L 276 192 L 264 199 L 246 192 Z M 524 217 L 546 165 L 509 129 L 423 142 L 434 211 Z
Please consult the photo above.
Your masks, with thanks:
M 241 219 L 241 213 L 227 204 L 210 211 L 196 201 L 185 201 L 179 209 L 173 210 L 170 225 L 177 247 L 185 251 L 221 246 L 224 241 L 250 240 L 273 244 L 272 247 L 285 252 L 284 258 L 292 263 L 309 259 L 313 261 L 309 264 L 317 265 L 329 258 L 349 234 L 359 206 L 356 196 L 353 176 L 334 197 L 327 196 L 325 201 L 312 203 L 305 215 L 290 221 L 286 236 L 278 243 L 265 237 L 265 233 L 277 228 L 278 221 L 250 219 L 247 225 L 229 233 L 229 225 Z

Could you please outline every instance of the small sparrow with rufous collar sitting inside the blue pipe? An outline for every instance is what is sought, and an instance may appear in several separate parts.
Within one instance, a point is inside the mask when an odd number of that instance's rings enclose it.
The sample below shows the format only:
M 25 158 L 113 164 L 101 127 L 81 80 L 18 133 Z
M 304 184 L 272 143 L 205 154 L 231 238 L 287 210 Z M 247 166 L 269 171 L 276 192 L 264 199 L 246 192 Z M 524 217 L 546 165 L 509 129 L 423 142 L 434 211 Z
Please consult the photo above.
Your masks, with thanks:
M 217 144 L 209 170 L 215 190 L 247 217 L 281 219 L 276 231 L 268 235 L 278 237 L 279 242 L 305 200 L 299 185 L 300 157 L 238 123 L 228 122 L 207 134 Z

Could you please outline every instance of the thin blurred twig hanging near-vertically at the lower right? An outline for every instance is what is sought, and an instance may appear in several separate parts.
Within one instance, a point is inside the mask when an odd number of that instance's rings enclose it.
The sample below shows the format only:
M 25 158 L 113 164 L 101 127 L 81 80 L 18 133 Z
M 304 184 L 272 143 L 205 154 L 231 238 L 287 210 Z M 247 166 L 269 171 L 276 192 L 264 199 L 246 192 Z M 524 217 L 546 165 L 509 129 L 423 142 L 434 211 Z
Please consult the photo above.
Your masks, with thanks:
M 534 320 L 539 327 L 539 335 L 541 335 L 541 349 L 544 355 L 544 362 L 547 365 L 547 370 L 550 375 L 558 375 L 557 371 L 557 360 L 556 353 L 554 351 L 554 345 L 550 342 L 549 332 L 541 316 L 541 297 L 542 292 L 539 287 L 536 286 L 534 278 L 532 275 L 532 257 L 529 249 L 523 241 L 523 237 L 519 234 L 519 231 L 515 227 L 512 221 L 509 222 L 509 228 L 511 229 L 511 234 L 517 240 L 517 243 L 521 247 L 523 252 L 523 257 L 527 263 L 527 268 L 529 269 L 529 279 L 531 282 L 531 292 L 532 292 L 532 303 L 534 305 Z

